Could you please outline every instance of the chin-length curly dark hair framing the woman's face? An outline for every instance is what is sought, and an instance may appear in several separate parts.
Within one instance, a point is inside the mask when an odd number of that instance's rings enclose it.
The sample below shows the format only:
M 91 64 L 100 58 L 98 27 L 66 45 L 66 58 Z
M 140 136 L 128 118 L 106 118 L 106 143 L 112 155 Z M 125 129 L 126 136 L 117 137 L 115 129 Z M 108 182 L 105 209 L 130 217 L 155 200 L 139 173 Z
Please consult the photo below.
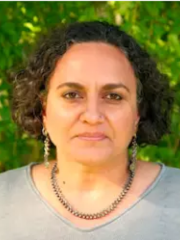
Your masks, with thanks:
M 134 38 L 105 21 L 64 24 L 43 39 L 13 81 L 13 120 L 31 136 L 43 139 L 41 96 L 47 94 L 47 83 L 56 63 L 72 44 L 90 41 L 114 45 L 130 61 L 138 80 L 137 143 L 156 145 L 164 134 L 170 133 L 174 97 L 168 78 L 159 72 L 155 61 Z

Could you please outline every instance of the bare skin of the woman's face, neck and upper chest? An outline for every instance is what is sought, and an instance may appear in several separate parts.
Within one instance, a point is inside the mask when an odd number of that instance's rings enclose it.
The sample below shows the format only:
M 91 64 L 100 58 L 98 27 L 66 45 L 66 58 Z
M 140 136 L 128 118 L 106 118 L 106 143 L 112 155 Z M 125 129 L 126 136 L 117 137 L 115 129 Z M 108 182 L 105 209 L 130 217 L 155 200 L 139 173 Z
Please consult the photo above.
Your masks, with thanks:
M 60 87 L 69 82 L 81 84 L 83 89 Z M 109 83 L 121 83 L 125 87 L 104 90 L 103 86 Z M 71 46 L 59 59 L 50 78 L 43 123 L 56 146 L 58 183 L 79 211 L 94 213 L 106 208 L 127 181 L 127 148 L 139 121 L 136 85 L 133 69 L 125 55 L 114 46 L 97 42 Z M 107 137 L 97 142 L 76 137 L 86 131 L 101 131 Z M 38 170 L 37 167 L 33 171 L 34 181 L 54 208 L 73 221 L 76 217 L 67 213 L 52 192 L 49 178 L 53 162 L 49 170 L 42 170 L 42 167 Z M 155 170 L 150 166 L 137 162 L 132 186 L 134 194 L 126 197 L 126 204 L 132 203 L 154 180 L 159 168 L 156 166 Z M 85 220 L 75 220 L 79 225 L 82 221 Z

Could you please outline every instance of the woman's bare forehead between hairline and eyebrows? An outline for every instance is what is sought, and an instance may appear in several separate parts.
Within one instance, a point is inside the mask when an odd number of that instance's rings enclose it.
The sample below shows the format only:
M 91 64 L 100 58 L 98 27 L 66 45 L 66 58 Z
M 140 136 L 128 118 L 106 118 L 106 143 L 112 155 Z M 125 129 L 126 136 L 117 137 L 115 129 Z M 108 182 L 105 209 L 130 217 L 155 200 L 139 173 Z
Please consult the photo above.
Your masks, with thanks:
M 136 85 L 132 66 L 124 53 L 107 43 L 74 44 L 58 60 L 52 84 L 80 82 L 84 85 L 121 82 L 130 89 Z

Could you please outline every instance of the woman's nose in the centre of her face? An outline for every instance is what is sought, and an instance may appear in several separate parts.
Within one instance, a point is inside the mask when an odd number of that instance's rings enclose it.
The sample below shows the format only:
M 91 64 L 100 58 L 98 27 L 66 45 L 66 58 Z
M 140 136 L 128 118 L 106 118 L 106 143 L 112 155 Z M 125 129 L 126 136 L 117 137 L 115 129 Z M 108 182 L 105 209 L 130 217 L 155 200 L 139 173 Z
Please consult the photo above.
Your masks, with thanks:
M 86 103 L 85 110 L 81 114 L 81 121 L 91 125 L 100 124 L 104 121 L 104 116 L 100 112 L 100 105 L 95 99 Z

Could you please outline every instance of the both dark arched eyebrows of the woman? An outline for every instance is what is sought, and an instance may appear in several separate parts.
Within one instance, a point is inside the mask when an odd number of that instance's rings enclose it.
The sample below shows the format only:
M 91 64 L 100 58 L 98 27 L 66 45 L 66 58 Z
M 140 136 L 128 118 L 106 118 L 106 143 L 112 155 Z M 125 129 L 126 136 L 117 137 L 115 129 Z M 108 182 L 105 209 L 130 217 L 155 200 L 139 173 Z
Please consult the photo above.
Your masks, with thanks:
M 57 89 L 63 88 L 63 87 L 70 87 L 70 88 L 76 88 L 79 90 L 84 90 L 85 87 L 80 84 L 80 83 L 75 83 L 75 82 L 66 82 L 66 83 L 62 83 L 60 85 L 58 85 Z M 105 84 L 102 89 L 103 90 L 113 90 L 116 88 L 124 88 L 127 92 L 130 92 L 129 88 L 124 85 L 123 83 L 108 83 Z

